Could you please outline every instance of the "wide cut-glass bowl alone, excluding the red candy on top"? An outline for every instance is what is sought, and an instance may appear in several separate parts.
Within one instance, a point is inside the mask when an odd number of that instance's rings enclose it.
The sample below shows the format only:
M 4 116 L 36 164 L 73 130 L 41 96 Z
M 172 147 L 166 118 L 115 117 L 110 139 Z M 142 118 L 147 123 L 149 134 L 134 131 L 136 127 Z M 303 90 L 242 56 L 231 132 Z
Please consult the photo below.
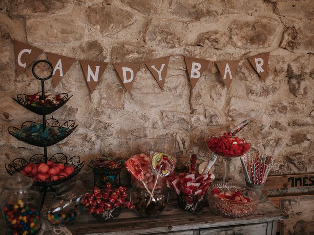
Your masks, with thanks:
M 235 193 L 240 190 L 242 192 L 242 196 L 250 198 L 250 201 L 246 203 L 235 203 L 221 198 L 216 198 L 212 193 L 214 188 L 218 188 L 221 192 L 225 193 L 228 191 Z M 207 200 L 210 210 L 214 213 L 229 218 L 241 218 L 249 216 L 256 211 L 259 202 L 259 195 L 251 188 L 245 186 L 228 183 L 216 183 L 208 188 Z

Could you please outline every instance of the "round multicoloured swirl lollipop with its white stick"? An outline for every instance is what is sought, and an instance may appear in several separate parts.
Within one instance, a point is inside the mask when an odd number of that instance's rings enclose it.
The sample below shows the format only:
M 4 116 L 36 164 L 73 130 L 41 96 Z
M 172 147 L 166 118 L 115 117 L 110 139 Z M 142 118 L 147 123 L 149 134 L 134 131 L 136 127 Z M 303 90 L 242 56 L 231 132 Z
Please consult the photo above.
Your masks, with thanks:
M 154 183 L 154 187 L 152 189 L 152 194 L 150 199 L 147 202 L 148 206 L 151 203 L 151 200 L 153 198 L 153 193 L 157 184 L 157 181 L 159 177 L 166 177 L 171 174 L 171 172 L 175 168 L 175 162 L 173 158 L 165 153 L 157 153 L 152 157 L 151 160 L 151 169 L 153 171 L 153 174 L 156 176 L 156 180 Z

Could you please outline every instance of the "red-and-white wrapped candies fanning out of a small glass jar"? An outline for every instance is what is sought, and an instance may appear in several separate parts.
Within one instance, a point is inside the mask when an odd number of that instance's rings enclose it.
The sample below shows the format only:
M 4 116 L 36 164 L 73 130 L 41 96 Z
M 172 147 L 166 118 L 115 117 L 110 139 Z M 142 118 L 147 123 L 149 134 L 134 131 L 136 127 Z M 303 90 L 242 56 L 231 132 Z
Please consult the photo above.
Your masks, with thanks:
M 214 180 L 213 174 L 200 175 L 180 173 L 177 176 L 170 177 L 167 180 L 167 186 L 172 188 L 178 194 L 179 203 L 182 201 L 179 198 L 184 198 L 186 211 L 195 211 L 198 204 L 204 199 L 207 188 Z

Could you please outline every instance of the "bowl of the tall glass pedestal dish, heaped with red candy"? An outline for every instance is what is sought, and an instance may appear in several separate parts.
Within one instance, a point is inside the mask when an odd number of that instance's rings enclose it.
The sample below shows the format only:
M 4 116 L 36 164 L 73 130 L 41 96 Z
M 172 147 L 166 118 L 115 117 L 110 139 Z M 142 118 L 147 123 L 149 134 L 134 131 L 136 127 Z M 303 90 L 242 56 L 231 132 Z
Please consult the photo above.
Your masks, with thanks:
M 226 131 L 221 135 L 208 130 L 205 143 L 211 152 L 223 157 L 242 156 L 251 147 L 250 138 L 246 132 L 240 135 L 232 135 Z

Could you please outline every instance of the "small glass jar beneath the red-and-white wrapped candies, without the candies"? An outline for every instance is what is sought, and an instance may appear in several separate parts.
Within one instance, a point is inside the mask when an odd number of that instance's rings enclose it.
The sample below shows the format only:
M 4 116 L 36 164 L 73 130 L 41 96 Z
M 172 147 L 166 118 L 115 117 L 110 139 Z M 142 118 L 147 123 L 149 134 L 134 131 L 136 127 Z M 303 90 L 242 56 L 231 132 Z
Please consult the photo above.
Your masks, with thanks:
M 189 212 L 197 212 L 202 210 L 204 207 L 204 195 L 199 198 L 197 195 L 186 195 L 183 192 L 180 192 L 177 195 L 178 205 L 184 210 Z

